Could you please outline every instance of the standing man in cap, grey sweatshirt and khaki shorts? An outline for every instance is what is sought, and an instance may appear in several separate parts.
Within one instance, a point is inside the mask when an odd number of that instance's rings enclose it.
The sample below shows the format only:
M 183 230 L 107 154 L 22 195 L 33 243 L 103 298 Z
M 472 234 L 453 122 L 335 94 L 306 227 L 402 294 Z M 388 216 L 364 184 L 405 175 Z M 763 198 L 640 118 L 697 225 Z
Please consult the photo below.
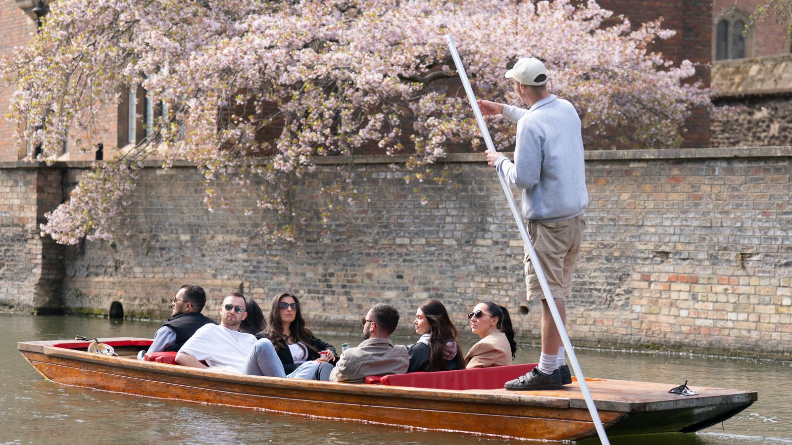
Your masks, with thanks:
M 547 71 L 539 59 L 521 58 L 506 78 L 512 79 L 520 100 L 530 108 L 479 101 L 487 116 L 503 114 L 517 123 L 514 163 L 487 150 L 489 165 L 508 184 L 523 191 L 523 217 L 528 235 L 566 322 L 564 299 L 572 293 L 572 272 L 581 249 L 588 203 L 581 120 L 569 101 L 547 92 Z M 527 298 L 542 300 L 542 356 L 539 366 L 506 382 L 507 390 L 556 390 L 572 382 L 564 348 L 527 248 L 524 257 Z

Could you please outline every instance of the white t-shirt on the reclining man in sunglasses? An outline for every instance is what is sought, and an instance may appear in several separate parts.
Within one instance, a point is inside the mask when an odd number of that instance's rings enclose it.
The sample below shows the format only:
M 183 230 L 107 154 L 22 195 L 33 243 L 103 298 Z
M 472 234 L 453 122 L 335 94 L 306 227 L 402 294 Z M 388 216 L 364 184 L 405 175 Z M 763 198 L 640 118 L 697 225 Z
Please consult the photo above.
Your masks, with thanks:
M 192 334 L 179 352 L 204 360 L 210 367 L 229 366 L 244 374 L 247 357 L 256 340 L 253 334 L 209 323 Z

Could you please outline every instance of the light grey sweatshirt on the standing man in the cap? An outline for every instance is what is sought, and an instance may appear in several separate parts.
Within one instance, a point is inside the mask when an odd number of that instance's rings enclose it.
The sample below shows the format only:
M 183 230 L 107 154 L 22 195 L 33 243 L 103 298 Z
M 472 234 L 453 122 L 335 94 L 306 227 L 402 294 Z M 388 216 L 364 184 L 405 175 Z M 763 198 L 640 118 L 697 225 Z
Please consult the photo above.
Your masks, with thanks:
M 506 182 L 523 189 L 523 216 L 552 222 L 574 218 L 588 204 L 581 119 L 569 101 L 554 95 L 531 109 L 505 105 L 503 115 L 517 123 L 514 163 L 497 158 Z

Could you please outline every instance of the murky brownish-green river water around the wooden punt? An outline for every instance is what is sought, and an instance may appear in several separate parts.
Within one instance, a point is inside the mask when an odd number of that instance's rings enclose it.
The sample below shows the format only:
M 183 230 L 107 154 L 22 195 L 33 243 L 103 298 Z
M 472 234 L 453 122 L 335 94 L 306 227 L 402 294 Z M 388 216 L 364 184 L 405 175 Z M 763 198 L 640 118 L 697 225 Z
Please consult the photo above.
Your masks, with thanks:
M 75 335 L 151 337 L 159 324 L 0 314 L 0 443 L 506 443 L 477 435 L 316 420 L 62 386 L 41 378 L 17 352 L 18 341 Z M 357 331 L 316 331 L 339 349 L 341 343 L 360 340 Z M 394 343 L 416 339 L 394 337 Z M 461 343 L 466 349 L 474 338 L 466 336 Z M 586 377 L 668 382 L 669 389 L 687 379 L 694 386 L 759 392 L 759 401 L 747 410 L 702 432 L 611 438 L 611 443 L 792 443 L 792 363 L 582 348 L 576 352 Z M 539 348 L 521 344 L 517 354 L 516 363 L 535 362 Z

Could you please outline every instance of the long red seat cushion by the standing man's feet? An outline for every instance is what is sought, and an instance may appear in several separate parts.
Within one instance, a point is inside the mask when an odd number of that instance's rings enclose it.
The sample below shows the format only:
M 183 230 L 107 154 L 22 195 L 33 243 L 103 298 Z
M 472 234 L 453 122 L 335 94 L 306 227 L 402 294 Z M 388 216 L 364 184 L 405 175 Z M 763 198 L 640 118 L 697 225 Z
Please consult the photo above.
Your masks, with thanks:
M 477 367 L 459 371 L 411 372 L 409 374 L 385 375 L 383 385 L 434 388 L 437 390 L 495 390 L 503 388 L 505 382 L 527 374 L 536 363 L 500 367 Z

